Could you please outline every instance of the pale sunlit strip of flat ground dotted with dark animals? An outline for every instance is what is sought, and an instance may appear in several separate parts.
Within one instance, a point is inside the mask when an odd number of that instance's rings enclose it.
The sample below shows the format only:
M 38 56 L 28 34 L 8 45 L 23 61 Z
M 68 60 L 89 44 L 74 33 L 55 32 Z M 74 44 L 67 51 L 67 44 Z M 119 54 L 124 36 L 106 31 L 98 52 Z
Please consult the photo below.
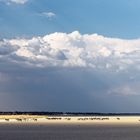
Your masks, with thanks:
M 140 116 L 39 116 L 0 115 L 0 123 L 140 124 Z

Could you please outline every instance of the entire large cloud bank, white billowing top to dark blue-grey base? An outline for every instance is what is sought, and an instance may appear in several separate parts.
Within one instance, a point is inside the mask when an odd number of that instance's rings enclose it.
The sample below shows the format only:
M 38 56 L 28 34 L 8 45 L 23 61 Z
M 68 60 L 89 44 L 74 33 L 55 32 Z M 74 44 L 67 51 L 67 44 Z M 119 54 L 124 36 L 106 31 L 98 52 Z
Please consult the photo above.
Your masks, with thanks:
M 0 42 L 0 110 L 139 111 L 140 40 L 54 33 Z

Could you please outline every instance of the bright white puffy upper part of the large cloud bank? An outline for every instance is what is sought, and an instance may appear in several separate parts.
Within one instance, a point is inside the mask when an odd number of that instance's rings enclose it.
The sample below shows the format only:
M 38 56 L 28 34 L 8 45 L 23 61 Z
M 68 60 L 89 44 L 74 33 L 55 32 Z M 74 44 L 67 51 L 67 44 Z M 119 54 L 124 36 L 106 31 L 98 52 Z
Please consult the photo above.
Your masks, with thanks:
M 31 39 L 4 39 L 0 41 L 0 58 L 33 67 L 139 70 L 140 39 L 82 35 L 78 31 L 56 32 Z

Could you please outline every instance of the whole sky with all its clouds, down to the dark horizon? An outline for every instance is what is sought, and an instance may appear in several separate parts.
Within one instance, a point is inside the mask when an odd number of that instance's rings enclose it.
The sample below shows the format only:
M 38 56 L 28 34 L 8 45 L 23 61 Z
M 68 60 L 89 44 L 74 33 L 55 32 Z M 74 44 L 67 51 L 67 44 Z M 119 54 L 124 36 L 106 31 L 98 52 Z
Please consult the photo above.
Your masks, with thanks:
M 140 112 L 139 0 L 0 0 L 0 111 Z

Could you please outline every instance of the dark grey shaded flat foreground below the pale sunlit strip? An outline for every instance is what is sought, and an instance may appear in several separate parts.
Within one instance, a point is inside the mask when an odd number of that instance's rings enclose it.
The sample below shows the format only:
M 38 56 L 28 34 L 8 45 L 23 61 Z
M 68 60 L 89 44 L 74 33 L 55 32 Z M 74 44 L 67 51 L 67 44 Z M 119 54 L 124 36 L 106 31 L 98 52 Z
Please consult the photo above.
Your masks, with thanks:
M 140 125 L 0 124 L 0 140 L 139 140 Z

